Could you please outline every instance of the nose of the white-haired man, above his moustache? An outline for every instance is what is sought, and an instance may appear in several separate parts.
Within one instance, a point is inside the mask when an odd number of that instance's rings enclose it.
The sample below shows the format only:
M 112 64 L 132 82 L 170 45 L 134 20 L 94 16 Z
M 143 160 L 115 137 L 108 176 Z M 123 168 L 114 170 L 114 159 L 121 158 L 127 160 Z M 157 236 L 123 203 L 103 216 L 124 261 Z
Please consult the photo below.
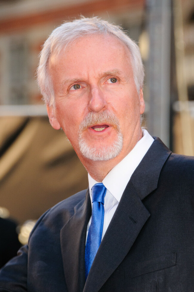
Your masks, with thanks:
M 88 109 L 99 112 L 107 107 L 107 102 L 103 92 L 98 87 L 90 89 Z

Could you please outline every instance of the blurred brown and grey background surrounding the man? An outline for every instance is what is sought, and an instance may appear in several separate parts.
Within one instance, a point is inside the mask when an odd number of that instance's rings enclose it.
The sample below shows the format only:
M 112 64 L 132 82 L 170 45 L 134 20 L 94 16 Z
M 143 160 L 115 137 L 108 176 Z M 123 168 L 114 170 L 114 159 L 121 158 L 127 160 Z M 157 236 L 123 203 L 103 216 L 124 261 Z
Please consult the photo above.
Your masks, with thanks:
M 76 153 L 49 124 L 35 77 L 47 36 L 81 14 L 121 25 L 138 43 L 144 126 L 173 152 L 194 153 L 192 0 L 0 0 L 0 217 L 17 221 L 22 244 L 44 211 L 87 188 Z

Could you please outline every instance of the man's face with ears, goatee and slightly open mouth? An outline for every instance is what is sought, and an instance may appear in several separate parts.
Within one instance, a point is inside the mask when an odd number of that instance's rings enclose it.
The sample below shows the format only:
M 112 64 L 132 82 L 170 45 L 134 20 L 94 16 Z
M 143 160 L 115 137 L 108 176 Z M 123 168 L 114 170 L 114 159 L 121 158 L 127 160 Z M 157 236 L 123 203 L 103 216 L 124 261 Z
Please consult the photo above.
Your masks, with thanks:
M 49 73 L 51 125 L 62 127 L 80 160 L 125 157 L 141 138 L 144 112 L 127 47 L 113 36 L 84 36 L 51 56 Z

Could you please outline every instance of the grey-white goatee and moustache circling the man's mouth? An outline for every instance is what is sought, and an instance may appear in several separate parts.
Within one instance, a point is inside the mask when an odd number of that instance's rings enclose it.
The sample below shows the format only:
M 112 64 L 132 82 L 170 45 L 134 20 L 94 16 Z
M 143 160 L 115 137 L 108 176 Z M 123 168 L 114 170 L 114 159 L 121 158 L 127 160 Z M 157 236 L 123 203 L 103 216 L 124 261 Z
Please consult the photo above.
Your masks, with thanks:
M 83 138 L 83 132 L 88 127 L 96 124 L 112 124 L 115 126 L 117 137 L 112 145 L 89 146 Z M 113 113 L 103 111 L 102 113 L 88 113 L 79 127 L 78 144 L 84 157 L 93 161 L 106 161 L 115 158 L 123 148 L 123 136 L 119 127 L 119 121 Z

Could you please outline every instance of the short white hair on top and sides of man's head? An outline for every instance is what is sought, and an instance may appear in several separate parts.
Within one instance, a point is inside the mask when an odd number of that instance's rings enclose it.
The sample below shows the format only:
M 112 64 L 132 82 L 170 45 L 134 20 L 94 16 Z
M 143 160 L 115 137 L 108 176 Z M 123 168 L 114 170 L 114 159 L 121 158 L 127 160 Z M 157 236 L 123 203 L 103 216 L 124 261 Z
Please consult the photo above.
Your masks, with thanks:
M 80 19 L 65 22 L 53 30 L 40 52 L 37 81 L 46 104 L 55 105 L 53 84 L 47 68 L 50 56 L 53 53 L 60 53 L 76 39 L 95 33 L 115 36 L 127 46 L 131 55 L 134 81 L 139 93 L 144 82 L 144 67 L 138 45 L 127 36 L 127 33 L 120 26 L 110 24 L 98 17 L 85 18 L 81 16 Z

